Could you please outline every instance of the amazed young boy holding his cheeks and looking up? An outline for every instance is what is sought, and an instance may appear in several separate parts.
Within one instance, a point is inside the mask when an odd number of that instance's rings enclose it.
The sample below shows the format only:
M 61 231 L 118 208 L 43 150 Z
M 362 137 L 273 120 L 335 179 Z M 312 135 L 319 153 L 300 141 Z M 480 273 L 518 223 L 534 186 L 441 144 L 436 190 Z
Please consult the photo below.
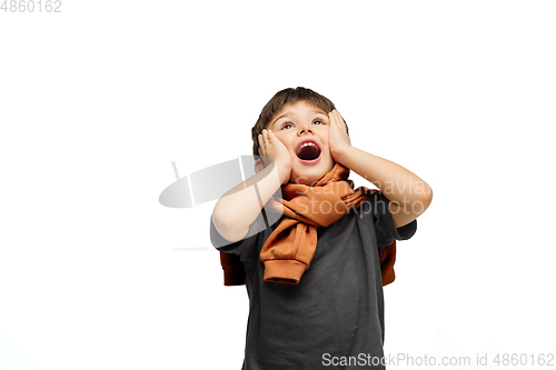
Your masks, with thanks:
M 258 159 L 211 219 L 212 243 L 245 269 L 242 369 L 384 369 L 383 284 L 394 277 L 384 281 L 380 256 L 415 233 L 430 187 L 351 147 L 334 103 L 309 89 L 279 91 L 252 138 L 267 163 Z M 349 170 L 380 191 L 354 190 Z M 268 224 L 272 210 L 279 219 Z

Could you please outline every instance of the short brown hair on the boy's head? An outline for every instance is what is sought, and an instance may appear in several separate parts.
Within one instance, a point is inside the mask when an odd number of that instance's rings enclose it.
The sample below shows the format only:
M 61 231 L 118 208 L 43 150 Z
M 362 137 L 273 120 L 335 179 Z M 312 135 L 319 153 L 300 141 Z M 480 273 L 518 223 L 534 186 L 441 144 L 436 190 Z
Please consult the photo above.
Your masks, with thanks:
M 298 87 L 296 89 L 288 88 L 278 91 L 272 97 L 272 99 L 270 99 L 267 102 L 265 108 L 262 108 L 262 111 L 260 112 L 257 123 L 255 123 L 255 126 L 251 129 L 254 156 L 259 156 L 259 140 L 258 140 L 259 133 L 261 133 L 262 130 L 267 128 L 267 126 L 270 123 L 275 114 L 278 113 L 285 106 L 296 103 L 298 101 L 307 101 L 308 103 L 311 103 L 322 109 L 327 113 L 336 109 L 336 107 L 334 107 L 334 103 L 329 99 L 322 97 L 321 94 L 310 89 Z M 346 130 L 347 130 L 347 124 L 346 124 Z

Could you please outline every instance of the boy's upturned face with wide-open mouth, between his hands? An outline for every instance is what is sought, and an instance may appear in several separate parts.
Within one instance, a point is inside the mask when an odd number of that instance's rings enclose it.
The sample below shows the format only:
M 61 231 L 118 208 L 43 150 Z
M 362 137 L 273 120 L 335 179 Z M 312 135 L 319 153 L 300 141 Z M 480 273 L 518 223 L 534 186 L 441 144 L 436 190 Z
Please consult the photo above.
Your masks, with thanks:
M 327 112 L 306 101 L 287 104 L 272 117 L 267 129 L 291 156 L 290 182 L 311 186 L 332 169 L 329 124 Z

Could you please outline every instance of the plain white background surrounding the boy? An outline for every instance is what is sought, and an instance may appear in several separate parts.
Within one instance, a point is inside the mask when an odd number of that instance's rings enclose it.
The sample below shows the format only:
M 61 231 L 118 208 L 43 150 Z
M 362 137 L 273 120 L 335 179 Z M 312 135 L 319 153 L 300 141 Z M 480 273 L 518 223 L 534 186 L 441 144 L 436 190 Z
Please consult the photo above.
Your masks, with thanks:
M 553 1 L 60 9 L 0 12 L 0 369 L 239 369 L 248 300 L 222 286 L 212 204 L 158 196 L 171 161 L 249 154 L 298 86 L 434 189 L 385 351 L 555 352 Z

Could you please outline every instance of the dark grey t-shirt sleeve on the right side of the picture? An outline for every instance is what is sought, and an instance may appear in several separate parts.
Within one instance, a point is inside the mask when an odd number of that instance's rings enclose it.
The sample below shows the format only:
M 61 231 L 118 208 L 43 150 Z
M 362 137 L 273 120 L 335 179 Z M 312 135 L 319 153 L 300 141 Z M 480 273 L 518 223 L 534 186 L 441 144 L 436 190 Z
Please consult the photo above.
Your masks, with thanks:
M 370 209 L 373 210 L 378 248 L 389 246 L 394 240 L 407 240 L 415 234 L 417 220 L 396 228 L 390 213 L 389 200 L 381 191 L 375 191 L 367 200 L 370 202 Z

